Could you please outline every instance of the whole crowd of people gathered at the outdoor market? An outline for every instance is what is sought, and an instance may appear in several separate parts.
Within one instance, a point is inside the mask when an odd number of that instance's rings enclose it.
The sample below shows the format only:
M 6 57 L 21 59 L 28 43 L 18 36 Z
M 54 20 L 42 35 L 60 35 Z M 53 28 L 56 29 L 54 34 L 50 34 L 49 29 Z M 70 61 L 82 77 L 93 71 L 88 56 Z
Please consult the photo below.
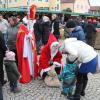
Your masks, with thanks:
M 68 19 L 62 23 L 56 14 L 51 19 L 46 15 L 36 15 L 32 21 L 32 33 L 27 24 L 26 16 L 23 19 L 10 16 L 6 20 L 0 14 L 0 100 L 3 100 L 2 86 L 7 82 L 3 65 L 13 93 L 21 92 L 19 81 L 27 83 L 36 76 L 41 77 L 47 86 L 62 86 L 61 94 L 69 100 L 80 100 L 85 96 L 88 73 L 97 71 L 95 49 L 100 49 L 99 21 Z M 65 36 L 63 43 L 60 43 L 61 28 Z M 40 55 L 37 68 L 32 64 L 35 63 L 33 33 L 36 51 Z M 64 65 L 63 53 L 67 55 Z

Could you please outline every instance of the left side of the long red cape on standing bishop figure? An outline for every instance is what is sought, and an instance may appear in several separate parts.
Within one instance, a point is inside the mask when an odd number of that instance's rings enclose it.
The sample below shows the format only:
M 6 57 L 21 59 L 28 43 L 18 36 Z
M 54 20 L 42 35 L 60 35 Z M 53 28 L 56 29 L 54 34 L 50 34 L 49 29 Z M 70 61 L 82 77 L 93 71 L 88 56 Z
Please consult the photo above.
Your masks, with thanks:
M 20 25 L 16 39 L 16 49 L 18 57 L 18 69 L 21 74 L 21 83 L 28 83 L 31 81 L 28 58 L 23 57 L 24 38 L 28 34 L 28 29 L 25 25 Z

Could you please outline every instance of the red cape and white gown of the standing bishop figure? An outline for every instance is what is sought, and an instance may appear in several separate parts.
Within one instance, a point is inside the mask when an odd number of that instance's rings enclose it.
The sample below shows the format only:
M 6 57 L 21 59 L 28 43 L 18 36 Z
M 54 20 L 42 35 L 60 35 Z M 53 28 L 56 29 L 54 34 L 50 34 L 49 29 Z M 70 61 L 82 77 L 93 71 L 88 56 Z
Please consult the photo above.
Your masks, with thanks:
M 21 83 L 29 83 L 31 81 L 31 75 L 34 78 L 38 76 L 35 37 L 33 33 L 30 34 L 32 34 L 32 37 L 26 39 L 29 35 L 29 31 L 25 25 L 20 25 L 17 34 L 16 48 L 18 56 L 18 69 L 21 73 Z

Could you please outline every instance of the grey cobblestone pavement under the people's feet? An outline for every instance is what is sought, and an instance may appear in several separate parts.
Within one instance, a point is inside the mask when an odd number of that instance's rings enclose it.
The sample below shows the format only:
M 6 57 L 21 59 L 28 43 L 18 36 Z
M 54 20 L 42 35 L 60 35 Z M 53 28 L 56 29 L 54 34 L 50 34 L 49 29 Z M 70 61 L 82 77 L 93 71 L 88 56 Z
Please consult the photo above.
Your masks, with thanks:
M 100 100 L 100 74 L 89 74 L 86 96 L 81 100 Z M 32 80 L 28 84 L 20 84 L 21 93 L 11 93 L 8 83 L 3 87 L 4 100 L 67 100 L 61 95 L 61 88 L 47 87 L 42 80 Z

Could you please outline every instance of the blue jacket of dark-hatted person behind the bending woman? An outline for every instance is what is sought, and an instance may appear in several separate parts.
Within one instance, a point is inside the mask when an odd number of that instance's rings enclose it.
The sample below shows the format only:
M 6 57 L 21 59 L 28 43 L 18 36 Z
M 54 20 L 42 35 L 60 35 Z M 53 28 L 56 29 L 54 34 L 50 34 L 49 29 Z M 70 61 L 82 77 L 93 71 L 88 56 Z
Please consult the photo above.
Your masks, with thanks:
M 77 40 L 86 42 L 85 34 L 81 26 L 76 26 L 75 29 L 69 34 L 69 37 L 76 37 Z

